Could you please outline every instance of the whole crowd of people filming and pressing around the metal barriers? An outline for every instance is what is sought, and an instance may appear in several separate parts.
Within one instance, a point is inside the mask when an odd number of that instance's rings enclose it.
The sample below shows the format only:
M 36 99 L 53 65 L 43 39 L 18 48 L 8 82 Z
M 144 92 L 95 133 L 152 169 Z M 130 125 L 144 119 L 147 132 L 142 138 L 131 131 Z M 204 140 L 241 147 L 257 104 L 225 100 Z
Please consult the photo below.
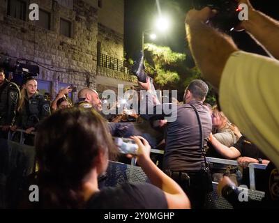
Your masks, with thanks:
M 234 208 L 259 208 L 259 203 L 263 208 L 279 208 L 279 23 L 252 8 L 248 0 L 241 3 L 248 4 L 250 20 L 238 28 L 257 38 L 274 58 L 238 49 L 231 38 L 207 23 L 216 15 L 210 8 L 190 10 L 186 16 L 191 51 L 206 82 L 219 92 L 220 107 L 204 103 L 209 86 L 200 79 L 187 86 L 183 103 L 160 104 L 144 71 L 143 54 L 135 61 L 133 72 L 146 90 L 146 98 L 140 99 L 146 104 L 144 115 L 108 118 L 102 113 L 98 93 L 89 88 L 78 92 L 75 106 L 66 98 L 70 87 L 61 89 L 50 103 L 38 93 L 36 79 L 25 79 L 20 91 L 1 69 L 0 138 L 20 128 L 27 133 L 26 144 L 35 141 L 40 202 L 23 201 L 22 207 L 200 209 L 212 191 L 213 180 L 219 182 L 218 191 Z M 273 36 L 267 35 L 271 30 Z M 246 79 L 250 79 L 249 85 Z M 150 107 L 152 114 L 148 113 Z M 129 123 L 129 117 L 140 125 Z M 35 139 L 31 132 L 36 132 Z M 135 141 L 137 164 L 151 184 L 123 183 L 99 189 L 98 176 L 117 154 L 112 136 Z M 150 145 L 164 148 L 160 168 L 151 160 Z M 239 168 L 210 165 L 206 156 L 237 160 Z M 250 163 L 268 164 L 259 185 L 265 197 L 241 203 L 235 186 L 249 186 L 246 167 Z

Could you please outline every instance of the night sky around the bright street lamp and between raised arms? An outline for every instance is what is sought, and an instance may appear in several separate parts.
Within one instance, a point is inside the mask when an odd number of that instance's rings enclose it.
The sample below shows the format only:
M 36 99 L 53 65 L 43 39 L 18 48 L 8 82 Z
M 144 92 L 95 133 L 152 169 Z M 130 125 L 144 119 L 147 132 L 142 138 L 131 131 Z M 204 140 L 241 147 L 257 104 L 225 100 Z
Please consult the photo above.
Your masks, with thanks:
M 171 29 L 164 35 L 158 33 L 156 40 L 146 38 L 145 43 L 166 45 L 175 52 L 186 52 L 185 15 L 192 6 L 192 0 L 159 0 L 163 14 L 171 18 Z M 251 0 L 255 8 L 279 20 L 276 0 Z M 158 16 L 156 0 L 125 0 L 124 48 L 129 57 L 141 49 L 142 30 L 153 28 L 153 20 Z M 243 50 L 265 54 L 245 32 L 232 32 L 236 44 Z

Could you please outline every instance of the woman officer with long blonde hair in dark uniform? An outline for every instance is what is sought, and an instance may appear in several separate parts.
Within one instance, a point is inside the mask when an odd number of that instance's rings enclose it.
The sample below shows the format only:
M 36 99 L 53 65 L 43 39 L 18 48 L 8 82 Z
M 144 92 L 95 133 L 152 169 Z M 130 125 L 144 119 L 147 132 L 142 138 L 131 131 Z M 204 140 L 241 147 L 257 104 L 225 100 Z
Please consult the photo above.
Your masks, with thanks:
M 27 134 L 30 134 L 36 130 L 36 125 L 38 125 L 40 120 L 50 115 L 50 101 L 47 100 L 45 95 L 40 95 L 37 92 L 37 86 L 37 81 L 33 77 L 25 79 L 21 91 L 22 98 L 17 109 L 18 116 L 15 121 L 15 127 L 12 130 L 21 128 L 26 130 Z M 29 144 L 27 141 L 26 144 Z

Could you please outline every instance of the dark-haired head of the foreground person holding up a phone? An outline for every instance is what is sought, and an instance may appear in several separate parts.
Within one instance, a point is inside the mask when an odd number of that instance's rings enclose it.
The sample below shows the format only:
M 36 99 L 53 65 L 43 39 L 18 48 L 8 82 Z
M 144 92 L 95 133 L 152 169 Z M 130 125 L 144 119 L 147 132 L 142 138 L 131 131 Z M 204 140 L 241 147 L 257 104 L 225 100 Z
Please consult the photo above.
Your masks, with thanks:
M 39 164 L 40 208 L 82 208 L 84 178 L 99 167 L 100 153 L 114 148 L 107 125 L 93 109 L 61 109 L 40 124 L 35 146 Z

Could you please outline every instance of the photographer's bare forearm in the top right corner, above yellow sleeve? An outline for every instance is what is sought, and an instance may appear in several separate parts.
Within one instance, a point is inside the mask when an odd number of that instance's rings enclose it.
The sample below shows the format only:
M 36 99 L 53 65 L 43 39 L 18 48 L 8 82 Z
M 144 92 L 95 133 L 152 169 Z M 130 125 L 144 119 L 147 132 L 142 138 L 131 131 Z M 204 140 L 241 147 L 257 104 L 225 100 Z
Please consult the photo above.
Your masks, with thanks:
M 240 28 L 245 29 L 267 52 L 279 59 L 279 22 L 252 8 L 247 0 L 240 3 L 248 5 L 248 20 L 244 20 Z

